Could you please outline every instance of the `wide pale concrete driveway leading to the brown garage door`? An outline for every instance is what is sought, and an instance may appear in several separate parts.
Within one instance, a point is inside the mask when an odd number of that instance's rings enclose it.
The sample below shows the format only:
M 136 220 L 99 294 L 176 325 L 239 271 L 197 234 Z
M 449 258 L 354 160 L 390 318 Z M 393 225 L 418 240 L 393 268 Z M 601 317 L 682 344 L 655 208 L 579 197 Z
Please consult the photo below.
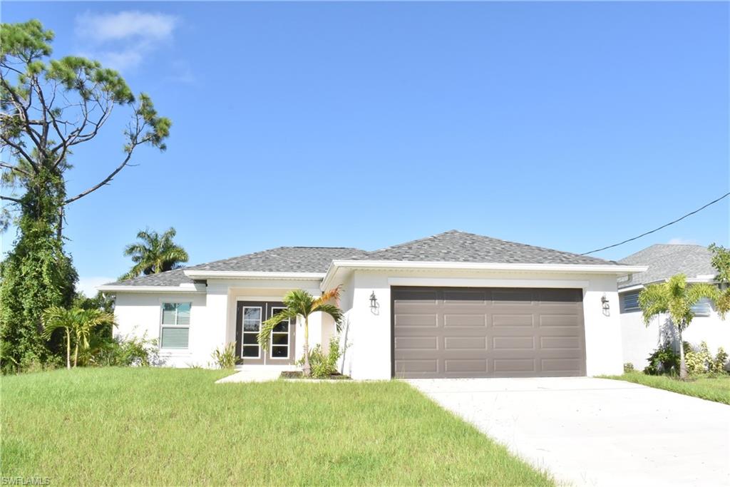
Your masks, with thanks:
M 591 377 L 408 382 L 559 483 L 730 486 L 730 406 Z

